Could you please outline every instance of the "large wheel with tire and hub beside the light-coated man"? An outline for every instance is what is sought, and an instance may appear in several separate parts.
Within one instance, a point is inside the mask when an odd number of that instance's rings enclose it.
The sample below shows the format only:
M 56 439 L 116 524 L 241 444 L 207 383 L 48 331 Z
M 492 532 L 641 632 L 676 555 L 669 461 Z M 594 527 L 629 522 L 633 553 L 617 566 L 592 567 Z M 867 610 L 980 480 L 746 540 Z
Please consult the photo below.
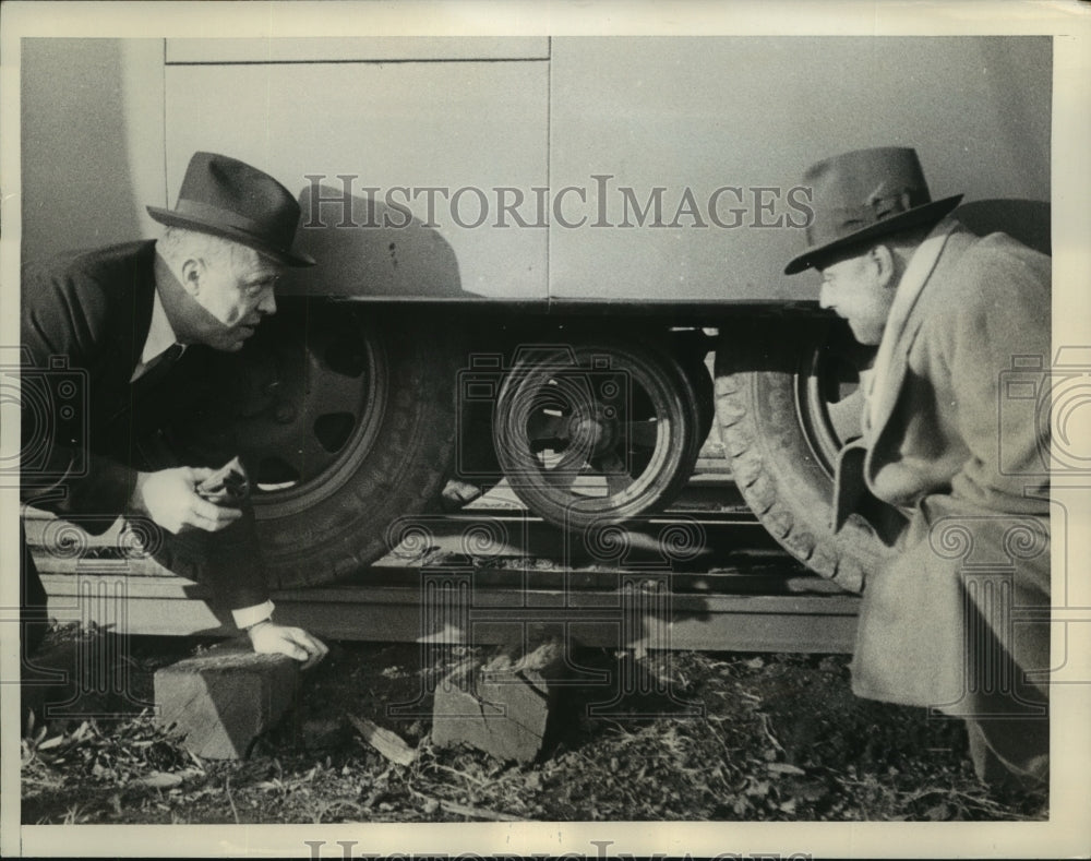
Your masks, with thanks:
M 839 324 L 726 327 L 716 407 L 740 492 L 774 538 L 813 571 L 858 591 L 885 548 L 863 523 L 832 531 L 837 453 L 860 435 L 862 348 Z M 778 349 L 779 347 L 779 349 Z

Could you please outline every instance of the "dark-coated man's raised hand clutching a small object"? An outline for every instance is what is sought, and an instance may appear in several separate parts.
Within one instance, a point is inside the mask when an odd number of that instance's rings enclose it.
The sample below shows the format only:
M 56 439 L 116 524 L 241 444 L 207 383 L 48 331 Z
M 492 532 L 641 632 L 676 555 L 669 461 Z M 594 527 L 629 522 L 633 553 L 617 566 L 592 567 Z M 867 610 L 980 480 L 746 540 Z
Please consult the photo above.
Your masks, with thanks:
M 214 470 L 180 466 L 157 473 L 137 473 L 130 506 L 146 514 L 169 533 L 204 529 L 217 533 L 242 516 L 242 511 L 201 499 L 195 488 Z

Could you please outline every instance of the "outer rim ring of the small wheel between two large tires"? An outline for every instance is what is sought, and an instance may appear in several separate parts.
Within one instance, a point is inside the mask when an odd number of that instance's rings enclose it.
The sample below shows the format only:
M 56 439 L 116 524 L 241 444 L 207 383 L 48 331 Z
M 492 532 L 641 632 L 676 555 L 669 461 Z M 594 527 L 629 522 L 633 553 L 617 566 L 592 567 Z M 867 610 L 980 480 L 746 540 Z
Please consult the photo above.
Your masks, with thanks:
M 672 451 L 678 452 L 674 467 L 669 476 L 657 480 L 655 492 L 642 494 L 637 500 L 631 500 L 620 506 L 606 510 L 572 507 L 560 503 L 551 498 L 549 492 L 539 490 L 538 487 L 521 478 L 512 480 L 513 475 L 524 475 L 528 467 L 526 466 L 526 455 L 525 453 L 519 454 L 521 446 L 514 439 L 518 430 L 511 427 L 505 421 L 505 417 L 513 411 L 513 405 L 524 396 L 517 381 L 533 372 L 535 359 L 530 359 L 516 361 L 513 364 L 512 371 L 501 386 L 493 422 L 493 443 L 496 457 L 508 477 L 512 490 L 532 513 L 543 521 L 574 533 L 582 533 L 608 522 L 621 523 L 666 507 L 674 501 L 688 481 L 704 443 L 704 439 L 699 435 L 700 417 L 696 415 L 695 407 L 698 396 L 694 391 L 690 375 L 675 356 L 651 340 L 637 343 L 615 337 L 597 338 L 587 344 L 573 344 L 572 349 L 577 352 L 611 352 L 624 361 L 639 363 L 646 372 L 658 375 L 662 390 L 674 399 L 675 418 L 680 419 L 681 432 L 676 444 L 671 446 Z

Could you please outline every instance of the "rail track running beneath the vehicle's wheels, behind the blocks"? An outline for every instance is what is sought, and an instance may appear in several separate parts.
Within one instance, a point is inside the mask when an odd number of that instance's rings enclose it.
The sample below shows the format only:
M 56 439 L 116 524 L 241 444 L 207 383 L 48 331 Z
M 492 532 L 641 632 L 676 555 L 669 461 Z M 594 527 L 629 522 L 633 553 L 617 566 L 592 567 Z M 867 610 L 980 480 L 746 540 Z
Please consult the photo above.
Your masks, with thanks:
M 717 475 L 668 512 L 565 534 L 501 494 L 392 527 L 394 550 L 334 585 L 274 593 L 278 619 L 331 639 L 436 647 L 551 629 L 588 646 L 851 651 L 859 598 L 781 551 Z M 77 539 L 29 512 L 50 615 L 124 634 L 229 635 L 206 590 L 131 552 L 118 527 Z

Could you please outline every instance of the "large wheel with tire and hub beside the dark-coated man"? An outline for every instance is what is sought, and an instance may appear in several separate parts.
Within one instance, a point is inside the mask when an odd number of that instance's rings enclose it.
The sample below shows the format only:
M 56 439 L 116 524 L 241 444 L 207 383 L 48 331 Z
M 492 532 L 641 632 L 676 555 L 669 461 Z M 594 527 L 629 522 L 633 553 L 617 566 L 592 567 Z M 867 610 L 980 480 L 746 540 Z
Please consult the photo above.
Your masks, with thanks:
M 457 354 L 433 325 L 283 301 L 225 368 L 272 586 L 327 583 L 432 504 L 454 450 Z M 221 407 L 221 409 L 225 407 Z

